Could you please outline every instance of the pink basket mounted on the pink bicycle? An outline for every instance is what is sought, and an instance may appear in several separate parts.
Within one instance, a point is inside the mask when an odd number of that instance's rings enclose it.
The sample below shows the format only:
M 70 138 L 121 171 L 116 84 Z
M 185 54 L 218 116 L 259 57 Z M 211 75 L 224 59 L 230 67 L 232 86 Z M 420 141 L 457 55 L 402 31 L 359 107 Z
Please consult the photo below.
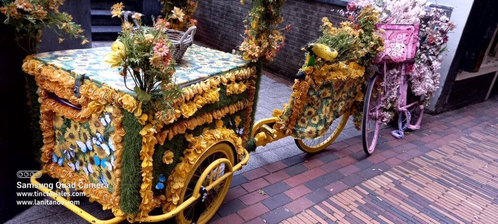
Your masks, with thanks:
M 377 54 L 376 64 L 409 62 L 415 59 L 418 47 L 418 24 L 378 23 L 378 34 L 384 38 L 384 50 Z

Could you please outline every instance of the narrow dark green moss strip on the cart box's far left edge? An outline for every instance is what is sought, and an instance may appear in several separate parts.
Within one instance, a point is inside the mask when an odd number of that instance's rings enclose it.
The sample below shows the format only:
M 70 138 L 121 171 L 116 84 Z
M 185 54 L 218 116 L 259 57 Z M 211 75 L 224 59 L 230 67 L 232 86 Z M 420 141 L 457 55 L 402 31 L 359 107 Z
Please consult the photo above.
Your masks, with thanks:
M 36 90 L 38 90 L 38 86 L 36 85 L 36 81 L 34 80 L 34 76 L 26 77 L 27 85 L 28 85 L 28 100 L 31 106 L 31 134 L 33 139 L 33 150 L 34 156 L 36 160 L 40 161 L 41 158 L 41 147 L 43 146 L 43 132 L 40 128 L 40 106 L 41 104 L 38 102 L 38 94 Z

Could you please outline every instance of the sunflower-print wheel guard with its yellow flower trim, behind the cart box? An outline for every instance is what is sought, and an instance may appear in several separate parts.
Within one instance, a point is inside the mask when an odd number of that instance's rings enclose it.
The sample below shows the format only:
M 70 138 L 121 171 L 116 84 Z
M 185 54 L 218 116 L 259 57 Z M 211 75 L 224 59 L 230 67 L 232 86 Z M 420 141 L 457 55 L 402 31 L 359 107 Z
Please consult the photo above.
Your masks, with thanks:
M 323 136 L 336 118 L 355 112 L 353 104 L 363 98 L 364 73 L 356 62 L 339 62 L 296 80 L 288 104 L 274 111 L 275 128 L 295 139 Z

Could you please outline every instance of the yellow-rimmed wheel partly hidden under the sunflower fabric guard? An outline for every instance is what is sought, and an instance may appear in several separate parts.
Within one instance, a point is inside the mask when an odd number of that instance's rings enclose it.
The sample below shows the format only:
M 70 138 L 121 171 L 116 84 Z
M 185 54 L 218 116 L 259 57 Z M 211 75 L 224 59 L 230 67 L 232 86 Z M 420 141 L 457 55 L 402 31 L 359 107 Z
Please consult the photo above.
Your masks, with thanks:
M 337 118 L 332 121 L 332 124 L 330 124 L 327 133 L 325 133 L 321 137 L 315 139 L 294 139 L 296 141 L 297 147 L 303 152 L 307 153 L 317 153 L 326 148 L 327 146 L 332 144 L 334 140 L 336 140 L 337 136 L 339 136 L 344 126 L 346 126 L 349 115 L 350 112 L 345 112 L 341 118 Z

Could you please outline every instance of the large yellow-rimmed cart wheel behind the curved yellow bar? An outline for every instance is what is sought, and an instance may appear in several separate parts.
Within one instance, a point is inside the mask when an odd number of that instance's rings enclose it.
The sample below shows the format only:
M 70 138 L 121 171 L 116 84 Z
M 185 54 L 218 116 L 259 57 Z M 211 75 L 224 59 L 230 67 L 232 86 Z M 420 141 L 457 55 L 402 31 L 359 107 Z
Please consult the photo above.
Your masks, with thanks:
M 228 159 L 232 164 L 235 162 L 234 152 L 232 147 L 227 143 L 218 143 L 202 154 L 202 156 L 197 160 L 192 170 L 187 174 L 187 178 L 185 179 L 185 184 L 182 191 L 180 192 L 180 200 L 178 205 L 182 204 L 185 200 L 189 199 L 192 196 L 193 189 L 195 185 L 199 181 L 199 177 L 201 174 L 208 168 L 208 166 L 213 163 L 217 159 Z M 232 166 L 232 164 L 229 164 Z M 213 170 L 210 171 L 210 174 L 205 179 L 205 183 L 203 186 L 208 186 L 210 183 L 214 182 L 217 177 L 221 177 L 225 172 L 229 172 L 229 168 L 225 163 L 219 164 Z M 219 183 L 216 187 L 211 189 L 208 192 L 206 203 L 206 210 L 201 214 L 198 222 L 199 224 L 207 223 L 216 213 L 218 208 L 220 207 L 223 199 L 225 199 L 225 195 L 227 195 L 228 189 L 230 187 L 230 182 L 232 181 L 232 176 L 230 175 L 227 179 Z M 180 212 L 176 216 L 176 220 L 178 224 L 190 224 L 192 217 L 196 212 L 195 207 L 196 203 L 202 203 L 200 200 L 196 201 L 192 205 L 185 208 L 182 212 Z

